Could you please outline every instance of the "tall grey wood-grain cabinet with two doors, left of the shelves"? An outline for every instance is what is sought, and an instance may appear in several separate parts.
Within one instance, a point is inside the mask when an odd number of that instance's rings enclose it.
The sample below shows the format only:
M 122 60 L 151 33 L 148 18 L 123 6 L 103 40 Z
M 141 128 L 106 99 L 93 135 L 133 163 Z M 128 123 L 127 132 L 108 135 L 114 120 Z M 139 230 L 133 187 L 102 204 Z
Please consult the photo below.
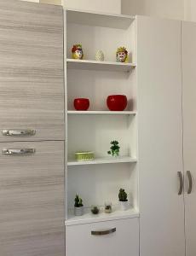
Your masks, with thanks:
M 0 0 L 0 35 L 0 255 L 63 256 L 63 10 Z

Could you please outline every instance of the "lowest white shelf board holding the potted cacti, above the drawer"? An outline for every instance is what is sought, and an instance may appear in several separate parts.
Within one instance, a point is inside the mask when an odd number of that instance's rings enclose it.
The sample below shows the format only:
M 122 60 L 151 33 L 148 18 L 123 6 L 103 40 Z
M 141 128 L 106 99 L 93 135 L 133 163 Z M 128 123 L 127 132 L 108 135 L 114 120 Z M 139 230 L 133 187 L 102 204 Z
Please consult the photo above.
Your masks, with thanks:
M 117 209 L 112 213 L 105 213 L 103 212 L 103 210 L 101 210 L 101 212 L 97 215 L 92 214 L 89 208 L 85 209 L 84 211 L 85 212 L 83 216 L 74 216 L 73 213 L 69 213 L 68 218 L 65 221 L 66 226 L 139 217 L 139 212 L 136 211 L 134 208 L 130 208 L 127 211 L 120 211 Z

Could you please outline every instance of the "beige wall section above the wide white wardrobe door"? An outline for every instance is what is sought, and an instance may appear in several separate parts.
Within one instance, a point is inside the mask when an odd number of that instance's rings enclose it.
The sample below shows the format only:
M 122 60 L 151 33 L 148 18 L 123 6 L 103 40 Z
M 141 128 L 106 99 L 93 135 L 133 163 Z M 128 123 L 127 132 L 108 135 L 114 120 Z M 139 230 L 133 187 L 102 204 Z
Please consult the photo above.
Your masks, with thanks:
M 183 20 L 184 1 L 195 2 L 196 6 L 196 0 L 122 0 L 122 13 Z

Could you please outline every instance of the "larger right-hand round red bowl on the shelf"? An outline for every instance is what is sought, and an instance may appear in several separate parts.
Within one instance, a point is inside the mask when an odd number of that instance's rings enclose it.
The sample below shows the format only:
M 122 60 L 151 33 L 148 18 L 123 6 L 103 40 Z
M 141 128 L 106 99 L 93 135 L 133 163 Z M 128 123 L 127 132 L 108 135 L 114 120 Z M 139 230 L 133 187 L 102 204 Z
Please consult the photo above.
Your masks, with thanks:
M 107 97 L 107 108 L 111 111 L 123 111 L 127 107 L 125 95 L 110 95 Z

